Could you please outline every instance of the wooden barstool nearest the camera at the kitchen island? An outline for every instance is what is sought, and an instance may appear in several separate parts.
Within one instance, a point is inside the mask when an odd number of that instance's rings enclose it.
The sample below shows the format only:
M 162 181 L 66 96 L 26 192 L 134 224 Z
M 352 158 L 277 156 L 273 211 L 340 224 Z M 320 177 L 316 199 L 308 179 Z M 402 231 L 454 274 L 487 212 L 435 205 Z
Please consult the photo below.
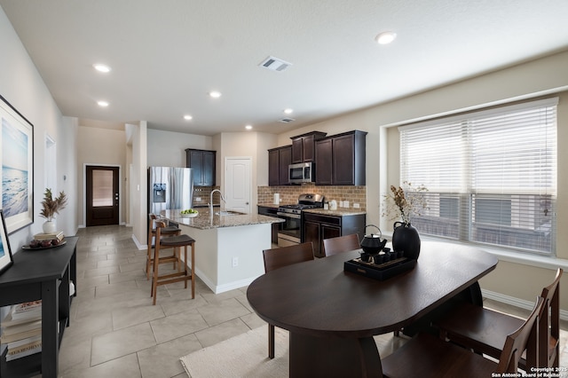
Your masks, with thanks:
M 160 285 L 166 285 L 174 282 L 185 282 L 185 288 L 187 288 L 187 280 L 192 280 L 192 299 L 195 298 L 195 240 L 188 235 L 177 235 L 170 236 L 169 238 L 162 238 L 162 229 L 166 227 L 166 223 L 162 220 L 156 219 L 156 243 L 154 248 L 154 272 L 152 274 L 152 293 L 151 296 L 154 297 L 153 304 L 156 304 L 157 288 Z M 192 248 L 191 272 L 187 266 L 187 246 Z M 179 248 L 184 248 L 184 260 L 182 261 L 180 256 Z M 172 256 L 160 257 L 160 250 L 174 248 L 177 253 L 174 252 Z M 159 264 L 162 262 L 175 262 L 177 263 L 177 271 L 169 274 L 160 275 L 158 272 Z M 183 272 L 180 267 L 184 266 Z

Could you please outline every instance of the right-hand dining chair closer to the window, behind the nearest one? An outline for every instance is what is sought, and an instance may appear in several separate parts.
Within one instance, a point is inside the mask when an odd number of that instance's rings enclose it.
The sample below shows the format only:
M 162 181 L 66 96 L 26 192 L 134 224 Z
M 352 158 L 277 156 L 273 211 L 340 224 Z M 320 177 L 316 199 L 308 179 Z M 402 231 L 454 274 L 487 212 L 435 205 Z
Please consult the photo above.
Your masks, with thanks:
M 563 270 L 556 270 L 555 280 L 542 289 L 544 298 L 542 313 L 539 314 L 538 355 L 528 350 L 521 359 L 521 366 L 558 367 L 560 354 L 560 300 L 559 284 Z M 458 343 L 464 347 L 499 358 L 503 350 L 504 336 L 523 325 L 524 320 L 493 311 L 471 303 L 460 303 L 442 318 L 433 323 L 439 330 L 440 338 Z

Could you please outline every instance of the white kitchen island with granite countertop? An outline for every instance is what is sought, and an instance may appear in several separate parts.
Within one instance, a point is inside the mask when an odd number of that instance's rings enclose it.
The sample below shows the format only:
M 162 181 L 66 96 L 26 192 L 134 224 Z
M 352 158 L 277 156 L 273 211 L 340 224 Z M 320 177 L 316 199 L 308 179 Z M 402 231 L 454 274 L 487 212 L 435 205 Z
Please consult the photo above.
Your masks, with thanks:
M 216 294 L 245 287 L 264 274 L 263 249 L 272 247 L 272 224 L 283 222 L 219 209 L 213 214 L 199 209 L 197 217 L 189 218 L 172 209 L 161 216 L 195 240 L 195 274 Z

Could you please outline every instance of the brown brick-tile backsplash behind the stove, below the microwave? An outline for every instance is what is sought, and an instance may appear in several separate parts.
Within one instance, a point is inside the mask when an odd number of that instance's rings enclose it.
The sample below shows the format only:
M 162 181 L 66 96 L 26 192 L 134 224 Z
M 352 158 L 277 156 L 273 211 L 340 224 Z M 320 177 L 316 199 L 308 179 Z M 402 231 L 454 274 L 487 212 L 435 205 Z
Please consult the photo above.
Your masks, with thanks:
M 359 203 L 361 211 L 367 211 L 367 186 L 351 185 L 283 185 L 283 186 L 258 186 L 258 203 L 272 203 L 274 193 L 280 194 L 280 203 L 296 203 L 298 196 L 303 193 L 321 194 L 326 201 L 335 200 L 349 201 L 349 209 L 353 209 L 354 203 Z

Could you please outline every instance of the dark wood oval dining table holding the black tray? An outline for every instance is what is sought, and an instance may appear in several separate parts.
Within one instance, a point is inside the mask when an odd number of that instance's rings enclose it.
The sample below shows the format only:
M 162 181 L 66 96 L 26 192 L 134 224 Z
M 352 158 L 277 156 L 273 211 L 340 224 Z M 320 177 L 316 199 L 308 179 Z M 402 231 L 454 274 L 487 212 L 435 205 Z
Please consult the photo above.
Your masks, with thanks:
M 481 305 L 477 280 L 497 264 L 478 248 L 422 241 L 414 269 L 375 280 L 343 271 L 358 256 L 288 265 L 248 286 L 256 314 L 290 332 L 291 377 L 382 377 L 374 335 L 413 327 L 457 295 Z

